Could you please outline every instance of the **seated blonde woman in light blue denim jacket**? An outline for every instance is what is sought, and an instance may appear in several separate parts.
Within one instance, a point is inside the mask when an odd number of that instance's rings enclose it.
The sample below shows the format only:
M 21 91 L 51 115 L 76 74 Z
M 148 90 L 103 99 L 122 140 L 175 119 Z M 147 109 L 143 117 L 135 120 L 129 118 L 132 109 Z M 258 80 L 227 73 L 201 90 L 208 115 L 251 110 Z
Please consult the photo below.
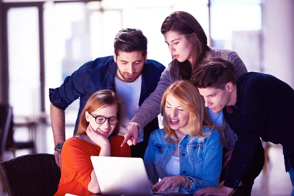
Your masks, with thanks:
M 221 137 L 211 126 L 197 89 L 188 80 L 172 83 L 163 95 L 160 111 L 164 128 L 151 133 L 144 156 L 152 189 L 194 194 L 217 187 Z

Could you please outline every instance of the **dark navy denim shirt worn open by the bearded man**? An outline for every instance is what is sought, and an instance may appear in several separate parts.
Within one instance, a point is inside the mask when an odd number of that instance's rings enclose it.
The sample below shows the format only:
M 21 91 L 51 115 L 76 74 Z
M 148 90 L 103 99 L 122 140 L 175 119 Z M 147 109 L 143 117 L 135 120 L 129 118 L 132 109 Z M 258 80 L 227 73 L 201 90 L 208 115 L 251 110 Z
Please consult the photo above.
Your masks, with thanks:
M 78 124 L 78 117 L 91 95 L 96 91 L 104 89 L 115 91 L 114 76 L 116 68 L 117 64 L 113 56 L 97 58 L 94 61 L 89 61 L 82 65 L 71 76 L 67 76 L 60 87 L 49 89 L 51 103 L 63 110 L 75 99 L 80 98 L 75 131 Z M 161 73 L 164 70 L 165 67 L 159 62 L 147 59 L 142 70 L 139 106 L 141 106 L 144 100 L 155 90 Z M 144 130 L 151 132 L 158 128 L 158 120 L 155 118 Z

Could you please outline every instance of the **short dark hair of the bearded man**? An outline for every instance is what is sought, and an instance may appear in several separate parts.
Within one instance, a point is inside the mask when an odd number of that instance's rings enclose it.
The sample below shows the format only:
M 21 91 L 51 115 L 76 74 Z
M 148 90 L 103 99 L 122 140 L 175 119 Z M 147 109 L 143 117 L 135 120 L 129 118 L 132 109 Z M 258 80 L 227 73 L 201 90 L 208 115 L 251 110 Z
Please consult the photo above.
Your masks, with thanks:
M 113 45 L 116 56 L 119 55 L 119 51 L 142 51 L 143 56 L 145 56 L 147 52 L 147 38 L 143 32 L 137 28 L 123 28 L 120 30 L 115 36 Z

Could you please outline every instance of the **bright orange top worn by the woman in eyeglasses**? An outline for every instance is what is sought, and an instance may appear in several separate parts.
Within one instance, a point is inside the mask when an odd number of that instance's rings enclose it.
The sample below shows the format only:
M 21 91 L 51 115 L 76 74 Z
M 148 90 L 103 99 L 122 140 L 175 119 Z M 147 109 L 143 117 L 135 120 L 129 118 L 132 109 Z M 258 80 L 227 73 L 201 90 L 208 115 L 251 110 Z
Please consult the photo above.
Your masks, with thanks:
M 115 135 L 110 141 L 111 156 L 131 157 L 128 145 L 121 147 L 123 136 Z M 77 196 L 91 196 L 88 184 L 93 165 L 91 156 L 98 156 L 100 147 L 83 139 L 72 137 L 65 141 L 61 151 L 61 178 L 54 196 L 70 193 Z M 98 175 L 98 174 L 96 174 Z

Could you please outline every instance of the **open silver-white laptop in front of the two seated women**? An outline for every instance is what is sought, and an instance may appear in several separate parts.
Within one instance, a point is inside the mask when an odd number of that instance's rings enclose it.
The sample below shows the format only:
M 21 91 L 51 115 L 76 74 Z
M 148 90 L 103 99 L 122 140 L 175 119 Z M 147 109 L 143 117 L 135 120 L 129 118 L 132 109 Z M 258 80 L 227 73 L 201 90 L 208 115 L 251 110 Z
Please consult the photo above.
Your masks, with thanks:
M 102 195 L 176 196 L 179 193 L 152 191 L 141 158 L 91 156 Z

